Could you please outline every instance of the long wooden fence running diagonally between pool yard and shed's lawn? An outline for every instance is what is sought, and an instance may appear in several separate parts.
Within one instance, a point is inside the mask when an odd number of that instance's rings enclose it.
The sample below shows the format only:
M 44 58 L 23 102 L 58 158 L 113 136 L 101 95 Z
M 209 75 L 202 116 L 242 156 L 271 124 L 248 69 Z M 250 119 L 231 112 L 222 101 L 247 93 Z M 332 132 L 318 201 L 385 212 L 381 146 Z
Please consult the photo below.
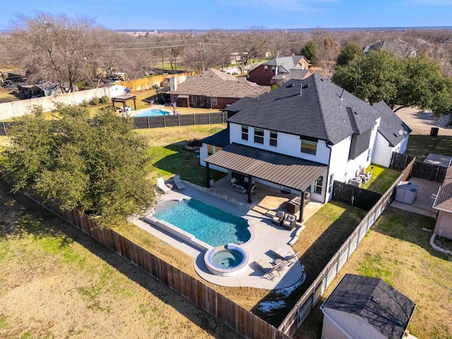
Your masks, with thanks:
M 412 160 L 412 162 L 414 162 L 414 160 Z M 364 236 L 370 230 L 370 227 L 374 225 L 374 222 L 379 218 L 381 213 L 383 213 L 383 210 L 385 210 L 390 205 L 391 201 L 393 201 L 396 186 L 399 182 L 403 181 L 405 175 L 408 175 L 406 172 L 409 172 L 412 162 L 407 165 L 406 169 L 403 170 L 402 174 L 400 174 L 391 187 L 381 195 L 379 201 L 377 201 L 361 222 L 359 222 L 359 225 L 357 225 L 350 237 L 348 237 L 343 246 L 340 247 L 317 276 L 316 280 L 314 280 L 314 283 L 312 283 L 307 291 L 304 292 L 304 295 L 302 295 L 297 304 L 295 304 L 295 307 L 292 308 L 279 326 L 280 331 L 287 333 L 288 335 L 294 335 L 297 328 L 302 325 L 303 321 L 311 312 L 311 309 L 319 302 L 326 288 L 331 284 L 335 276 L 338 275 L 340 268 L 344 266 L 358 244 L 364 239 Z

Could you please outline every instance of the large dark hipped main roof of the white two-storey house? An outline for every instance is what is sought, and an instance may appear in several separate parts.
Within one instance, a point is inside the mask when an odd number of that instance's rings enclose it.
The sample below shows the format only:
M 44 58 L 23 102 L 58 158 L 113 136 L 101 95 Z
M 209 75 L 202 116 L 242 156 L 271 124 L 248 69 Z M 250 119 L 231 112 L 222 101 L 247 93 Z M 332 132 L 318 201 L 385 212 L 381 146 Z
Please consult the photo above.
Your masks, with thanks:
M 352 121 L 347 107 L 354 112 Z M 237 112 L 228 119 L 236 124 L 310 136 L 333 144 L 351 136 L 357 127 L 371 126 L 369 118 L 379 115 L 374 107 L 316 73 L 303 81 L 288 81 L 252 100 L 239 100 L 226 110 Z

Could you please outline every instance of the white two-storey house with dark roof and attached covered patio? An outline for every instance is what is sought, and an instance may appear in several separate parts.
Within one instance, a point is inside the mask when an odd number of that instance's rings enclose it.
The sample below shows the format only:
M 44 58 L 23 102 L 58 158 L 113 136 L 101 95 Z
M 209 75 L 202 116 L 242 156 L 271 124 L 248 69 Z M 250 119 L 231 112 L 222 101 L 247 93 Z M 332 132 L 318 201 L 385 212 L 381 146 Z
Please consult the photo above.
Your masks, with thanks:
M 410 129 L 384 103 L 371 106 L 313 74 L 226 107 L 228 140 L 203 140 L 201 165 L 325 203 L 333 182 L 371 163 L 388 166 Z M 209 156 L 209 153 L 211 154 Z M 251 196 L 249 196 L 251 201 Z

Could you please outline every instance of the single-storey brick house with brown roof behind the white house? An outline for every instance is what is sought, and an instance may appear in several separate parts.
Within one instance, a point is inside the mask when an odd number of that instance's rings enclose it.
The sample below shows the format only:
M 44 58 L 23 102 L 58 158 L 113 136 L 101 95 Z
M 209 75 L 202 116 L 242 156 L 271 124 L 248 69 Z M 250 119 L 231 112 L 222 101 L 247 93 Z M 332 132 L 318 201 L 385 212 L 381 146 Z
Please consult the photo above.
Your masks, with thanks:
M 242 97 L 258 97 L 270 92 L 270 88 L 236 78 L 216 69 L 208 69 L 196 76 L 189 76 L 168 93 L 171 102 L 179 107 L 222 109 Z

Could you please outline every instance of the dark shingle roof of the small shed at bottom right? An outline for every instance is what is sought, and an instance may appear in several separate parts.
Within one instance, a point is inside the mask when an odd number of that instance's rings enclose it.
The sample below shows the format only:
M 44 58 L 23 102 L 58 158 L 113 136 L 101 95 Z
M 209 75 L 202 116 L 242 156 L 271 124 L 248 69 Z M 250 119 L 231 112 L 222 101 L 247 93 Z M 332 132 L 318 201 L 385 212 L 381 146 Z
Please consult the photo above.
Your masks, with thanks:
M 386 338 L 402 338 L 416 304 L 382 279 L 346 274 L 321 308 L 355 314 Z

